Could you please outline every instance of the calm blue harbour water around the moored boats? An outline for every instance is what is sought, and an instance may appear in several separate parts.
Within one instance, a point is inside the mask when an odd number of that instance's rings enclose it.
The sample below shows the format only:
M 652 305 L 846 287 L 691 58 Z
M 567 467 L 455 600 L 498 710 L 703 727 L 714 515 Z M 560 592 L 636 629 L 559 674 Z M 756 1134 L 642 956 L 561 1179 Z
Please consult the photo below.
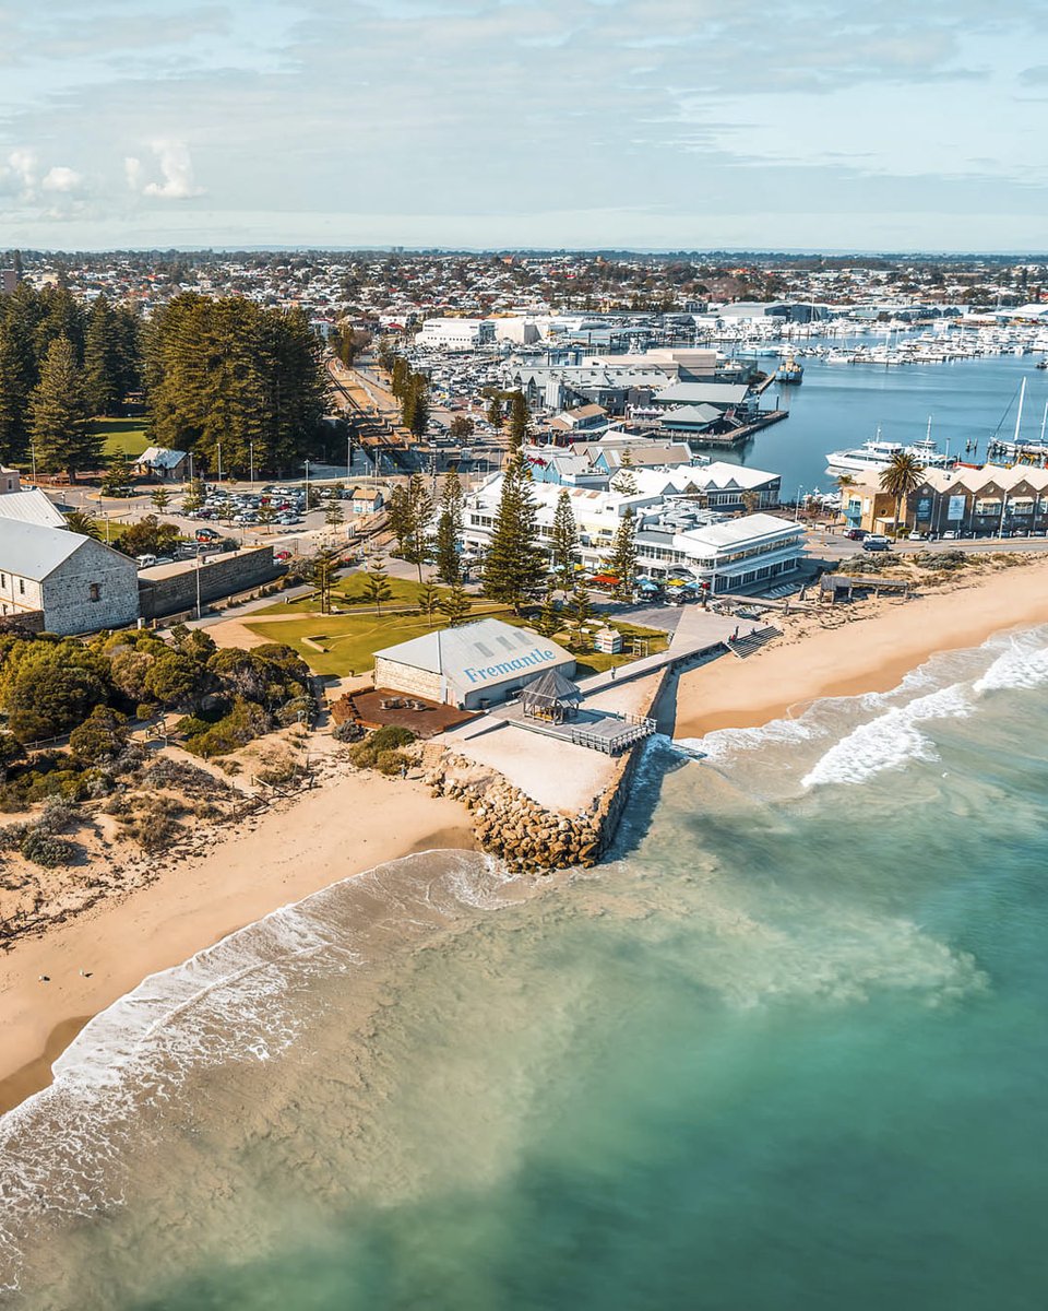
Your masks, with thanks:
M 790 417 L 758 433 L 740 451 L 714 458 L 782 473 L 782 498 L 793 501 L 798 489 L 833 490 L 833 479 L 825 472 L 828 451 L 861 446 L 878 429 L 887 442 L 916 442 L 925 437 L 930 417 L 931 437 L 941 450 L 948 443 L 952 455 L 979 463 L 985 460 L 986 440 L 998 425 L 1000 435 L 1011 439 L 1023 378 L 1023 439 L 1040 438 L 1048 371 L 1039 370 L 1036 361 L 1036 355 L 992 355 L 887 368 L 804 359 L 799 387 L 773 385 L 765 393 L 765 408 L 778 399 Z M 770 362 L 761 361 L 761 367 L 770 367 Z M 977 454 L 964 454 L 969 442 L 979 443 Z

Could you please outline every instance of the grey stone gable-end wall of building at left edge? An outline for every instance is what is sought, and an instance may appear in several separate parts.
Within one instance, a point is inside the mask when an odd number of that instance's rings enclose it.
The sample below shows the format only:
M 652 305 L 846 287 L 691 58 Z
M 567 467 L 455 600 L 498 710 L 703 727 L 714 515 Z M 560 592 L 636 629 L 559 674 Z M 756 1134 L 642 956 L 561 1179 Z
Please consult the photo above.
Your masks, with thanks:
M 97 589 L 98 600 L 92 600 L 92 589 Z M 135 561 L 101 541 L 85 539 L 43 579 L 41 593 L 43 621 L 51 633 L 97 633 L 126 628 L 139 617 Z

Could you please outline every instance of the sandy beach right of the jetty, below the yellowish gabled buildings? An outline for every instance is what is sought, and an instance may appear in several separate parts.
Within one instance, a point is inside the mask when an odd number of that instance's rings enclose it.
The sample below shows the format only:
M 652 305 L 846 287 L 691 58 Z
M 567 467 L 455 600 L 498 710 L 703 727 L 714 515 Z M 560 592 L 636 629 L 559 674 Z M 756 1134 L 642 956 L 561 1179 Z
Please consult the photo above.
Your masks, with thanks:
M 756 728 L 821 696 L 886 692 L 937 652 L 977 646 L 1019 624 L 1048 623 L 1048 560 L 960 576 L 909 600 L 882 598 L 790 615 L 783 636 L 745 661 L 683 674 L 675 737 Z

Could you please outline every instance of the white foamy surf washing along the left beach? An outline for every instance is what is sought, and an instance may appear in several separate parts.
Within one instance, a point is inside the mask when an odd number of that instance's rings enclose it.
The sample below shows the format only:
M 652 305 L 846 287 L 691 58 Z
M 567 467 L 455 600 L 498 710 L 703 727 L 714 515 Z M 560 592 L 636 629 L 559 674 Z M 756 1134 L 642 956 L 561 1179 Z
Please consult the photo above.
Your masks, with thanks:
M 507 905 L 508 881 L 474 852 L 409 856 L 274 911 L 96 1016 L 52 1084 L 0 1118 L 0 1295 L 17 1289 L 34 1217 L 122 1203 L 122 1145 L 177 1105 L 190 1071 L 271 1061 L 324 1013 L 310 981 L 392 962 L 398 945 Z

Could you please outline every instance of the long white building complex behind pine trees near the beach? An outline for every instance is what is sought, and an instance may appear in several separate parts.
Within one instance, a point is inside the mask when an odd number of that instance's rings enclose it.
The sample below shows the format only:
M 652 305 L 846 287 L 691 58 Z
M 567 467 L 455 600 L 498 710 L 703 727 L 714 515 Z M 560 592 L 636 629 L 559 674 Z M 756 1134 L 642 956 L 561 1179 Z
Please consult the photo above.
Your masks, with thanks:
M 479 555 L 491 540 L 502 482 L 503 475 L 495 475 L 464 503 L 462 543 Z M 627 510 L 637 517 L 638 572 L 651 578 L 672 574 L 692 578 L 710 591 L 732 591 L 791 573 L 804 552 L 802 526 L 770 514 L 724 519 L 672 490 L 642 489 L 637 496 L 621 496 L 548 482 L 532 488 L 544 544 L 553 536 L 553 517 L 562 490 L 567 492 L 579 534 L 578 560 L 592 572 L 604 568 Z

